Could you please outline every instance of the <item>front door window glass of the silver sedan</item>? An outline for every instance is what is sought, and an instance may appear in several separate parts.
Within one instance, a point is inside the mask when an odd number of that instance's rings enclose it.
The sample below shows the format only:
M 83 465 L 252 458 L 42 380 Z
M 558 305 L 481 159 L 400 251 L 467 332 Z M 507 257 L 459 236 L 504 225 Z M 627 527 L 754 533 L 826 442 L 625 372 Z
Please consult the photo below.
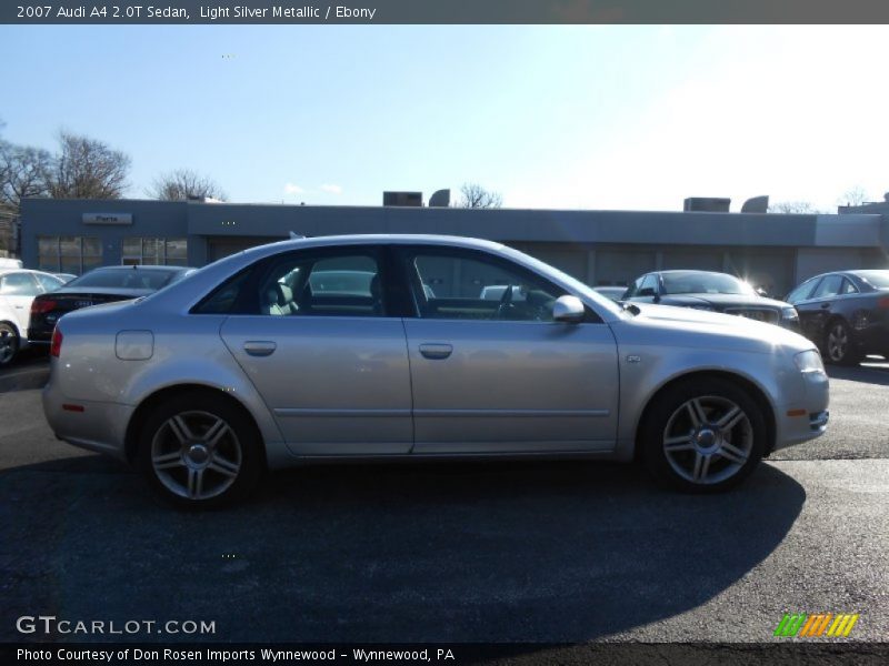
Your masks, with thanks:
M 403 255 L 423 319 L 552 321 L 565 291 L 508 261 L 483 253 L 419 249 Z

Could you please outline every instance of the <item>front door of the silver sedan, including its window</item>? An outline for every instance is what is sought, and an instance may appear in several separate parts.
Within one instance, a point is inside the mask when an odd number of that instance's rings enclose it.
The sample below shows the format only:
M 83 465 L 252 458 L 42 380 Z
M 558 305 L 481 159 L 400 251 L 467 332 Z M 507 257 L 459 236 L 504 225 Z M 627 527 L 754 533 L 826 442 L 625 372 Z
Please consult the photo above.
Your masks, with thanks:
M 404 320 L 414 453 L 610 451 L 615 337 L 552 321 L 563 290 L 486 252 L 402 248 L 416 312 Z

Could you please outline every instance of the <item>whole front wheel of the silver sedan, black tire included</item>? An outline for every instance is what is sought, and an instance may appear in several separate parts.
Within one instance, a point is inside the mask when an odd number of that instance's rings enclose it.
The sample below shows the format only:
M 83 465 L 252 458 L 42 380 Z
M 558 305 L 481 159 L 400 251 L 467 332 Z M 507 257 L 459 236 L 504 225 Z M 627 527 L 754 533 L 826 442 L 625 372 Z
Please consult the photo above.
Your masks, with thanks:
M 689 380 L 667 387 L 655 401 L 640 426 L 638 445 L 659 485 L 718 493 L 741 483 L 762 460 L 766 417 L 742 386 L 720 377 Z M 730 416 L 735 407 L 740 416 Z M 722 420 L 728 420 L 726 427 L 717 425 Z

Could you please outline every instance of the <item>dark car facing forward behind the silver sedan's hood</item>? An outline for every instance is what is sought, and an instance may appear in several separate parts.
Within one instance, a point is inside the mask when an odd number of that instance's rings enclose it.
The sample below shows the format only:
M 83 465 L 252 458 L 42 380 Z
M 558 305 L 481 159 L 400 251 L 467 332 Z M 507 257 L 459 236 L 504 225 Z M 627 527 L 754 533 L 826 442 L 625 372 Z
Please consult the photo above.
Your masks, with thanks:
M 760 296 L 747 282 L 728 273 L 646 273 L 627 287 L 622 300 L 737 314 L 799 331 L 799 317 L 792 305 Z

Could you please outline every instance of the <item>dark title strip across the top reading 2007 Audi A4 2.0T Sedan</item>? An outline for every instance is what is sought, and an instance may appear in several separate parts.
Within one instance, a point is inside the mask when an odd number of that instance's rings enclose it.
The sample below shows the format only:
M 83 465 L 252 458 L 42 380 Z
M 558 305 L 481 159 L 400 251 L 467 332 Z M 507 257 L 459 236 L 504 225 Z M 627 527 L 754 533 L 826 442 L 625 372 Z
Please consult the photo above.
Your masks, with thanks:
M 8 24 L 889 23 L 885 0 L 4 0 Z

